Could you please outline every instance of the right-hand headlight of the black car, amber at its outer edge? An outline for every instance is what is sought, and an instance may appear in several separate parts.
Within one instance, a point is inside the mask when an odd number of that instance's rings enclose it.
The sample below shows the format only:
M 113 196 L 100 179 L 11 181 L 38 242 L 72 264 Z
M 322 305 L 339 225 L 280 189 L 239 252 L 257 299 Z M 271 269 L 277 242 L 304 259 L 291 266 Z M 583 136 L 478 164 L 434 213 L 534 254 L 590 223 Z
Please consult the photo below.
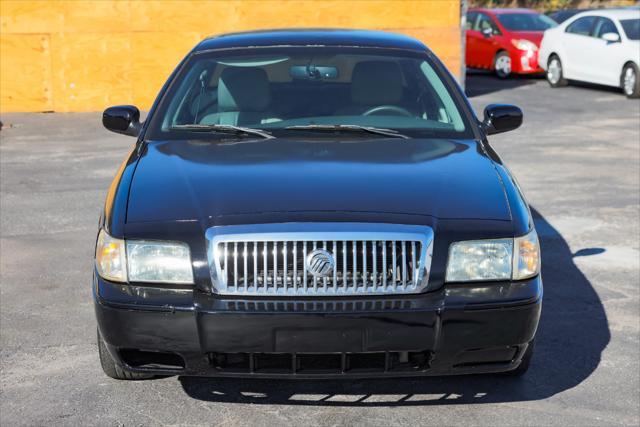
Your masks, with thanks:
M 515 239 L 456 242 L 449 250 L 447 282 L 522 280 L 540 272 L 535 230 Z

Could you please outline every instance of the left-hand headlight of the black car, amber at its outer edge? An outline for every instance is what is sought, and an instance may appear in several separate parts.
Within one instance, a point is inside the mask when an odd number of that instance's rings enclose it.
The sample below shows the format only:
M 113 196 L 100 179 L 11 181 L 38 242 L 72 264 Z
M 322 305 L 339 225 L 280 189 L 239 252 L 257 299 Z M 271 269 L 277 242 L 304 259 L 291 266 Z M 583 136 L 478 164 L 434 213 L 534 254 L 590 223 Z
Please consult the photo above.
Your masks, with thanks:
M 100 276 L 116 282 L 193 283 L 189 246 L 181 242 L 125 242 L 102 230 L 96 266 Z

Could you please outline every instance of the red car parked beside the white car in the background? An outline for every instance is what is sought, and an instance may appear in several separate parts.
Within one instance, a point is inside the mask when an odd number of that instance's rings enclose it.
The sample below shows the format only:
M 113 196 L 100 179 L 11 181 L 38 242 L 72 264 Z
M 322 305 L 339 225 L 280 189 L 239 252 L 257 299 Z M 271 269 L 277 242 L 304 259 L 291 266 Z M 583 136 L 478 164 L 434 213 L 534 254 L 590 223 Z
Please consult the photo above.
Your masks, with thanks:
M 544 31 L 556 25 L 529 9 L 469 9 L 467 67 L 495 70 L 502 79 L 511 73 L 542 73 L 538 48 Z

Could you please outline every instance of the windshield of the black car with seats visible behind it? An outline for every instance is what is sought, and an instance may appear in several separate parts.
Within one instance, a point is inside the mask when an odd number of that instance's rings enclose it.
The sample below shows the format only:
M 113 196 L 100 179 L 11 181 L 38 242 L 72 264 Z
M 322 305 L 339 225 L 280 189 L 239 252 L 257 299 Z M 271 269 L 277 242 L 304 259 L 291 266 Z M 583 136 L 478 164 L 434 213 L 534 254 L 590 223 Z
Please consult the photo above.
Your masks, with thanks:
M 421 137 L 473 136 L 454 84 L 427 53 L 326 47 L 243 52 L 194 54 L 159 103 L 148 138 L 193 137 L 196 131 L 198 138 L 229 138 L 228 129 L 218 132 L 223 129 L 217 125 L 275 136 L 327 134 L 319 125 L 325 131 L 328 125 L 349 125 L 334 130 L 353 137 L 376 135 L 355 127 Z

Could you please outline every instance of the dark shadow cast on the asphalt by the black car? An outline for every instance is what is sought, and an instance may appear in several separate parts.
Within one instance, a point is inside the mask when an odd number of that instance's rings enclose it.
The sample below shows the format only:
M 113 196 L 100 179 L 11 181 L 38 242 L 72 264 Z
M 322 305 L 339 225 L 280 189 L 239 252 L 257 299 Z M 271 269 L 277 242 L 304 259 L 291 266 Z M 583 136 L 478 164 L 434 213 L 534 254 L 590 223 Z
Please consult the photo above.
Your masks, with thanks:
M 602 302 L 574 264 L 600 248 L 571 252 L 533 210 L 542 246 L 544 303 L 529 372 L 368 380 L 260 380 L 180 377 L 192 398 L 210 402 L 317 406 L 411 406 L 540 400 L 569 390 L 598 367 L 610 339 Z

